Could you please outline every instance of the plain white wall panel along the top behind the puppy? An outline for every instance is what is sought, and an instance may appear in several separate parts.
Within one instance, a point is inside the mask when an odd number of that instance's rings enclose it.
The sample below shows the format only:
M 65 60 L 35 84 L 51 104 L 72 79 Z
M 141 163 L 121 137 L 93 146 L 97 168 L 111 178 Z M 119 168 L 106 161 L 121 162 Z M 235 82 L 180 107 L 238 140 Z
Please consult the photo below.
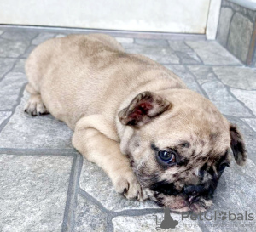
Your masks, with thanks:
M 0 0 L 0 24 L 205 33 L 209 3 L 210 0 Z

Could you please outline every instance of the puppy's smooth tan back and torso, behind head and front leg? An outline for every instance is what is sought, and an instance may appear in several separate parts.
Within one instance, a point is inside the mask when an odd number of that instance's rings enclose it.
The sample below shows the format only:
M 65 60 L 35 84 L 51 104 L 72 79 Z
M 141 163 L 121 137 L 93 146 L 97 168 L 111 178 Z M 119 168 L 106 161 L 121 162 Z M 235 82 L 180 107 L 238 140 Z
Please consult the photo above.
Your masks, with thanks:
M 154 90 L 145 89 L 145 82 L 151 88 L 156 82 L 157 90 L 169 79 L 172 88 L 185 88 L 165 67 L 142 55 L 125 54 L 119 42 L 101 34 L 44 42 L 27 59 L 26 75 L 27 90 L 40 93 L 49 112 L 72 128 L 81 116 L 99 112 L 113 122 L 128 95 Z

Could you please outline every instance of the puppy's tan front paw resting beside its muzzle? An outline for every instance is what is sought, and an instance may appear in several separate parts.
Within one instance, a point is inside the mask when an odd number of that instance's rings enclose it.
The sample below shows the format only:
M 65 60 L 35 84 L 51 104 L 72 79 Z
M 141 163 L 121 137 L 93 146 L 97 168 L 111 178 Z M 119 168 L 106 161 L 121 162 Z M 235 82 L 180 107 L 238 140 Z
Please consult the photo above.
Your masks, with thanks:
M 113 185 L 115 190 L 127 199 L 135 198 L 139 201 L 144 201 L 148 198 L 141 185 L 138 184 L 137 178 L 132 171 L 121 173 L 113 180 Z

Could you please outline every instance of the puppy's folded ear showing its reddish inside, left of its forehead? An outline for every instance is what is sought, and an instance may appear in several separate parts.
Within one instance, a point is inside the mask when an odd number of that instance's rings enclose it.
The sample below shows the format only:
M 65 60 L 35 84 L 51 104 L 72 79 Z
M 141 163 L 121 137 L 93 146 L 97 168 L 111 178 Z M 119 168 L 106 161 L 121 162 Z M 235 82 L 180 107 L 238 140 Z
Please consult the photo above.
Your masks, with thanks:
M 119 120 L 123 125 L 141 127 L 155 116 L 171 108 L 172 104 L 151 92 L 139 93 L 131 104 L 119 112 Z

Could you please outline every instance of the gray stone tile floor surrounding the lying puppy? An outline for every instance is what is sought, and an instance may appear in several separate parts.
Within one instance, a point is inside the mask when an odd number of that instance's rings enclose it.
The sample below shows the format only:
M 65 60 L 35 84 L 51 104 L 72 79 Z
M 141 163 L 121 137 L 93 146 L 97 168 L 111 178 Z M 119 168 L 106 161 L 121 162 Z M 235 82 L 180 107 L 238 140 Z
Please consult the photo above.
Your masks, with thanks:
M 52 116 L 23 113 L 26 57 L 40 42 L 71 31 L 0 27 L 0 231 L 156 231 L 163 210 L 151 201 L 127 201 L 100 168 L 71 144 L 72 132 Z M 202 220 L 183 218 L 163 231 L 255 231 L 256 70 L 215 41 L 118 37 L 128 53 L 147 55 L 181 76 L 236 123 L 247 144 L 246 167 L 232 163 Z M 211 218 L 224 212 L 227 219 Z M 253 220 L 246 220 L 245 212 Z M 229 213 L 244 218 L 234 220 Z

